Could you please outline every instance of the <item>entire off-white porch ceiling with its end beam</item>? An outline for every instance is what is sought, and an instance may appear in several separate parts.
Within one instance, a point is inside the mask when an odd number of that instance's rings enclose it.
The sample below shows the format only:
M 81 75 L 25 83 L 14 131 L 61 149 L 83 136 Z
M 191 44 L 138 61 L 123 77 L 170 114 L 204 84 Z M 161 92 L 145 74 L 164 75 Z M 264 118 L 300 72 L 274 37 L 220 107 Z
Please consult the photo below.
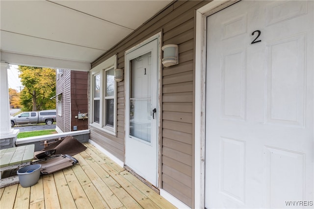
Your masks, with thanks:
M 73 70 L 117 44 L 171 0 L 0 0 L 1 61 Z

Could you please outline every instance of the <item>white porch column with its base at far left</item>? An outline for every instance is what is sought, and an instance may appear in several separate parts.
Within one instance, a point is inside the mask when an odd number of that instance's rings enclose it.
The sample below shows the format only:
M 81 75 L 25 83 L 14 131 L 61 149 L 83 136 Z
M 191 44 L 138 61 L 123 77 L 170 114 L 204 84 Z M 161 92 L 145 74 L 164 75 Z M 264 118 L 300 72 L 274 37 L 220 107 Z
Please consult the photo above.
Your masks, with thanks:
M 1 62 L 0 68 L 0 148 L 15 146 L 19 130 L 11 128 L 10 120 L 10 100 L 7 69 L 9 65 Z

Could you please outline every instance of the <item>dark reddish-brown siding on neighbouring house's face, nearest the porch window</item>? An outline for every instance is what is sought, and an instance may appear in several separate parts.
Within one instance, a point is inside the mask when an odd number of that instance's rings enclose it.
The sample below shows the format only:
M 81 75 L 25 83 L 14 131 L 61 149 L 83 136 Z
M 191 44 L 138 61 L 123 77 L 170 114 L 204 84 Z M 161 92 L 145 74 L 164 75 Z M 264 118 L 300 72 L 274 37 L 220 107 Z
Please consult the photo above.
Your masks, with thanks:
M 88 72 L 71 71 L 71 131 L 88 129 L 88 119 L 78 119 L 78 113 L 88 113 Z

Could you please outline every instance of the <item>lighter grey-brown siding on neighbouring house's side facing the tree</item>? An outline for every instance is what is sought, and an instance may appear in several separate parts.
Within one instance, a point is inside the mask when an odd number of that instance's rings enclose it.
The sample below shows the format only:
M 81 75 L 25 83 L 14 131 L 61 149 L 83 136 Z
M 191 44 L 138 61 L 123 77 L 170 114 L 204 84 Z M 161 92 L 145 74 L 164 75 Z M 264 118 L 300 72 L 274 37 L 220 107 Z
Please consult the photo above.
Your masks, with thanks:
M 71 131 L 71 70 L 63 70 L 63 74 L 56 81 L 56 99 L 62 93 L 61 116 L 56 117 L 56 124 L 63 132 Z M 58 103 L 56 104 L 58 111 Z

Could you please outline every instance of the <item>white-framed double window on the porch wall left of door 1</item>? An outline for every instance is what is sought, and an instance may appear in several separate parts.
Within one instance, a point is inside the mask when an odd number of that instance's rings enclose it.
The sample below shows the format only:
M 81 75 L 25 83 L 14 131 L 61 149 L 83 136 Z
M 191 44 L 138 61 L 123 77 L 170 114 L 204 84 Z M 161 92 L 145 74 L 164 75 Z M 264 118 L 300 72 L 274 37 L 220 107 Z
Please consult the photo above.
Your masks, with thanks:
M 91 70 L 91 125 L 116 133 L 116 55 Z

